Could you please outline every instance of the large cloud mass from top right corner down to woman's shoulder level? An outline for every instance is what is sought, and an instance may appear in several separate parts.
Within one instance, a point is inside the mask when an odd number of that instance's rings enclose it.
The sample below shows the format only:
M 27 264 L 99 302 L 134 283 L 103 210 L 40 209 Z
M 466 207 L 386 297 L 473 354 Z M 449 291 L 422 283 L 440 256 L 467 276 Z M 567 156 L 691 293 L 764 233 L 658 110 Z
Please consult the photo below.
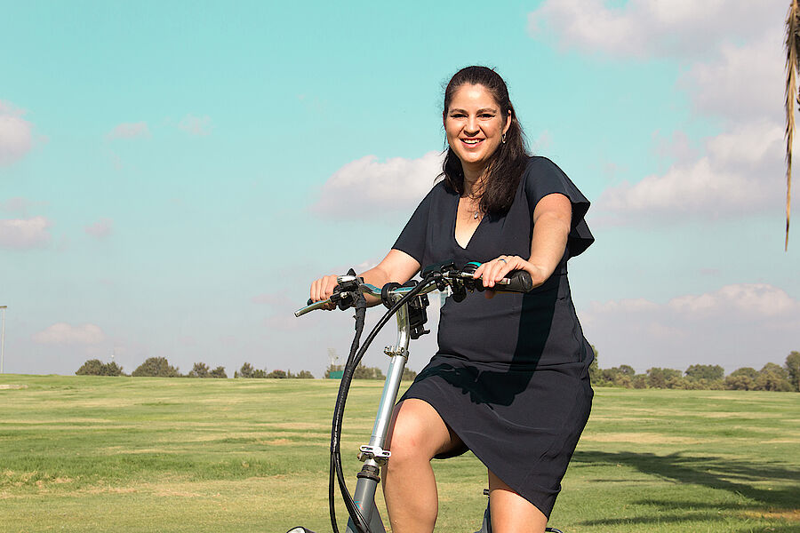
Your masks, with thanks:
M 716 219 L 780 212 L 785 191 L 783 20 L 780 0 L 548 0 L 529 16 L 564 48 L 618 58 L 671 58 L 697 115 L 720 117 L 723 132 L 694 150 L 688 136 L 655 147 L 668 171 L 604 191 L 600 223 L 676 216 Z

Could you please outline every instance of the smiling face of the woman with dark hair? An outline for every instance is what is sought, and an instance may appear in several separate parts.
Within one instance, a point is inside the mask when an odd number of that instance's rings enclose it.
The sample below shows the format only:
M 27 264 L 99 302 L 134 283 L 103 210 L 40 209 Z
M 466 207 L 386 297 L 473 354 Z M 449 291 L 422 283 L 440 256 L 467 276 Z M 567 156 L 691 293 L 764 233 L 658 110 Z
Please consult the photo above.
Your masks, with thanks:
M 511 125 L 510 115 L 500 113 L 500 105 L 483 85 L 461 85 L 453 93 L 444 132 L 465 172 L 484 171 Z

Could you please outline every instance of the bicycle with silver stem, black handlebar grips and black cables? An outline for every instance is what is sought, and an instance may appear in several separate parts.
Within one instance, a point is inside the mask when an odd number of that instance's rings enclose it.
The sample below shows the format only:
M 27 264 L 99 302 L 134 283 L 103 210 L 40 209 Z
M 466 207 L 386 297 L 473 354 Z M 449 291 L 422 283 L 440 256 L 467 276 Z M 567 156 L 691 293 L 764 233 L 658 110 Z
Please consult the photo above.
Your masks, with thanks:
M 334 509 L 334 478 L 339 485 L 341 497 L 348 510 L 347 533 L 386 533 L 378 508 L 375 505 L 375 493 L 380 483 L 380 467 L 386 465 L 391 457 L 391 452 L 383 449 L 383 446 L 386 444 L 392 411 L 400 390 L 400 380 L 403 377 L 405 363 L 408 361 L 409 342 L 429 332 L 424 328 L 425 322 L 428 321 L 427 295 L 429 292 L 433 290 L 451 290 L 453 300 L 460 302 L 467 297 L 468 292 L 484 290 L 483 284 L 473 275 L 477 267 L 480 267 L 480 263 L 471 262 L 462 268 L 456 268 L 452 262 L 432 265 L 422 269 L 420 282 L 412 280 L 404 285 L 387 283 L 380 289 L 365 283 L 362 278 L 357 277 L 356 273 L 350 269 L 347 275 L 337 277 L 338 286 L 331 298 L 316 303 L 308 300 L 307 306 L 295 312 L 295 316 L 300 317 L 316 309 L 329 308 L 331 304 L 338 306 L 341 310 L 350 307 L 356 308 L 356 335 L 353 338 L 350 354 L 344 366 L 332 420 L 328 504 L 334 533 L 339 533 Z M 524 271 L 516 271 L 498 282 L 492 290 L 528 292 L 532 288 L 530 274 Z M 388 311 L 374 326 L 364 341 L 364 345 L 359 346 L 364 330 L 364 314 L 367 307 L 364 295 L 380 298 L 380 302 L 388 307 Z M 395 314 L 397 317 L 397 341 L 395 345 L 386 346 L 384 349 L 384 353 L 391 358 L 391 362 L 384 382 L 383 393 L 380 396 L 375 423 L 372 426 L 370 441 L 359 449 L 358 458 L 364 463 L 364 466 L 362 466 L 361 472 L 356 474 L 356 489 L 353 496 L 350 496 L 345 484 L 344 473 L 342 472 L 340 455 L 341 424 L 348 390 L 356 366 L 361 362 L 367 348 L 372 344 L 372 340 L 374 340 L 378 331 Z M 488 489 L 484 489 L 484 494 L 488 496 Z M 551 533 L 563 533 L 556 528 L 548 527 L 545 530 Z M 300 526 L 290 529 L 287 533 L 313 532 Z M 492 533 L 492 520 L 488 503 L 484 511 L 481 529 L 476 533 Z

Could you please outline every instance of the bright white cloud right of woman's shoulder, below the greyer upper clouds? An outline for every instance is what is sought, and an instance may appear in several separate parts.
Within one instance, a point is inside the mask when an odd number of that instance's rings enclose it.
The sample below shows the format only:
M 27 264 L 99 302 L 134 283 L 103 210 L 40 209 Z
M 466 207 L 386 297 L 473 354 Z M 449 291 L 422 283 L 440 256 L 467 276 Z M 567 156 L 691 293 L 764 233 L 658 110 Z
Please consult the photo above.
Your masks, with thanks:
M 596 202 L 598 221 L 691 215 L 703 219 L 780 210 L 783 191 L 783 129 L 775 123 L 745 123 L 705 142 L 702 156 L 679 161 L 664 174 L 636 184 L 609 187 Z M 770 179 L 768 179 L 770 178 Z

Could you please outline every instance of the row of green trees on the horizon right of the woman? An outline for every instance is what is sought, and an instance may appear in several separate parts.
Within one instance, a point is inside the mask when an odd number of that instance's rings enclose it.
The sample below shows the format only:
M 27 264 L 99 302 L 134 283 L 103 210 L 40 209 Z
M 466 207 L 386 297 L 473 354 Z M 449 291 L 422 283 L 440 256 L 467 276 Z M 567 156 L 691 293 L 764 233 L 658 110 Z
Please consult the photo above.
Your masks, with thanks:
M 595 346 L 592 349 L 595 350 L 595 361 L 589 367 L 592 386 L 800 392 L 800 352 L 788 354 L 783 366 L 768 362 L 761 370 L 743 367 L 725 376 L 718 364 L 692 364 L 684 371 L 653 367 L 644 374 L 636 374 L 627 364 L 601 369 Z

